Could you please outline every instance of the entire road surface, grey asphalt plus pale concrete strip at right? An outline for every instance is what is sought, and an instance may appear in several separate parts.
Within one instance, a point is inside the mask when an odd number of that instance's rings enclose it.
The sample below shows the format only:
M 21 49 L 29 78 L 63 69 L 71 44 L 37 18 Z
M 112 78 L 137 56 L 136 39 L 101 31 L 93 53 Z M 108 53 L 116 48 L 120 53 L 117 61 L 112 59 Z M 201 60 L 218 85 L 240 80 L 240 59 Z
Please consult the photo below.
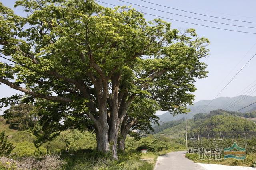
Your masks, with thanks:
M 159 156 L 154 170 L 256 170 L 256 168 L 245 166 L 227 166 L 217 164 L 194 163 L 185 158 L 187 151 L 171 152 Z

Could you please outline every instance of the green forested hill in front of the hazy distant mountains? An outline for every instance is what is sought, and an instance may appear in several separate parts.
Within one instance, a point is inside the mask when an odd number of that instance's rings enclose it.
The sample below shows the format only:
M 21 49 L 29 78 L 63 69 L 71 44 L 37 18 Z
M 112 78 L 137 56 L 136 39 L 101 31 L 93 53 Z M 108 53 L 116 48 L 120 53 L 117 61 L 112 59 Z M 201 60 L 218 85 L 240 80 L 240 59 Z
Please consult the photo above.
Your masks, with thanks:
M 252 113 L 252 114 L 251 114 Z M 254 115 L 251 113 L 237 113 L 225 110 L 213 110 L 210 113 L 198 113 L 188 120 L 188 134 L 197 133 L 197 127 L 200 132 L 206 131 L 256 131 L 256 123 L 243 117 Z M 167 127 L 167 128 L 166 128 Z M 185 134 L 184 119 L 170 121 L 160 126 L 154 127 L 154 132 L 158 135 L 165 135 L 170 138 L 183 137 Z

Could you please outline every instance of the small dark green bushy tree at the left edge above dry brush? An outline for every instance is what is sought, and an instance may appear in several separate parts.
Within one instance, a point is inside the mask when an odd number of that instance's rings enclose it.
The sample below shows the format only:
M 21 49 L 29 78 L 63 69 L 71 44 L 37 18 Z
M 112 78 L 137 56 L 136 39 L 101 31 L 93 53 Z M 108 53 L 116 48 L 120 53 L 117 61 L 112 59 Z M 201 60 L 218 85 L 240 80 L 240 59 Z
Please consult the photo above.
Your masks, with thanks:
M 8 156 L 14 149 L 13 144 L 7 141 L 5 131 L 0 133 L 0 156 Z

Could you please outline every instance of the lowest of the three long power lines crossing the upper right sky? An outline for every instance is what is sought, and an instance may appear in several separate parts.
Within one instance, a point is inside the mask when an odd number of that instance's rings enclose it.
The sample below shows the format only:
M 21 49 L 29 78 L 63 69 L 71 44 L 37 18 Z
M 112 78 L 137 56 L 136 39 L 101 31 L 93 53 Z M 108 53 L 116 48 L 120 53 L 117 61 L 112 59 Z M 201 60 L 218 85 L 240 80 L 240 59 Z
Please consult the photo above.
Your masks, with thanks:
M 124 8 L 124 9 L 131 10 L 131 11 L 135 11 L 135 12 L 140 12 L 140 11 L 137 11 L 137 10 L 132 10 L 132 9 L 129 9 L 129 8 L 125 8 L 125 7 L 121 7 L 121 6 L 118 6 L 118 5 L 110 4 L 110 3 L 107 3 L 107 2 L 102 2 L 102 1 L 99 1 L 99 0 L 95 0 L 95 1 L 96 1 L 96 2 L 101 2 L 101 3 L 103 3 L 103 4 L 108 4 L 108 5 L 112 5 L 112 6 Z M 201 25 L 201 24 L 192 23 L 192 22 L 186 22 L 186 21 L 181 21 L 181 20 L 175 20 L 175 19 L 172 19 L 172 18 L 167 18 L 167 17 L 163 17 L 163 16 L 158 16 L 158 15 L 154 15 L 154 14 L 149 14 L 149 13 L 146 13 L 146 12 L 140 12 L 140 13 L 142 13 L 142 14 L 147 14 L 147 15 L 151 15 L 151 16 L 155 16 L 155 17 L 160 17 L 160 18 L 164 18 L 164 19 L 168 19 L 168 20 L 173 20 L 173 21 L 178 21 L 178 22 L 183 22 L 183 23 L 190 23 L 190 24 L 193 24 L 193 25 L 199 25 L 199 26 L 202 26 L 202 27 L 208 27 L 208 28 L 214 28 L 214 29 L 221 29 L 221 30 L 225 30 L 225 31 L 233 31 L 233 32 L 240 32 L 240 33 L 256 34 L 256 33 L 252 33 L 252 32 L 237 31 L 237 30 L 233 30 L 233 29 L 224 29 L 224 28 L 219 28 L 219 27 L 212 27 L 212 26 L 207 26 L 207 25 Z

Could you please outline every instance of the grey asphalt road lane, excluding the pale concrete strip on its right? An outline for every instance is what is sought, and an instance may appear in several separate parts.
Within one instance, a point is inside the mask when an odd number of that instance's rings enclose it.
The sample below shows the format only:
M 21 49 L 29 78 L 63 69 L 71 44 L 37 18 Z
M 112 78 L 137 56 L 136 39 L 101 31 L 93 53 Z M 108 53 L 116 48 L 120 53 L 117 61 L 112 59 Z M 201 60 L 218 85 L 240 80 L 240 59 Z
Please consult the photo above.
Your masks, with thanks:
M 184 157 L 187 151 L 171 152 L 157 158 L 154 170 L 204 170 L 202 166 Z

